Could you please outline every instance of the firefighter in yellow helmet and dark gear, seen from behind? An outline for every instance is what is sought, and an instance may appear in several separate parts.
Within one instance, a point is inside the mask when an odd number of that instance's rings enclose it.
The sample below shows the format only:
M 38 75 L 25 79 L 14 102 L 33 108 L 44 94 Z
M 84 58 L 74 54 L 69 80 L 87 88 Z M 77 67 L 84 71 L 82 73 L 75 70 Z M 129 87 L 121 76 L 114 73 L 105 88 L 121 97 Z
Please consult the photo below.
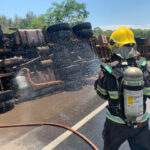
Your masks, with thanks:
M 121 27 L 109 38 L 111 62 L 102 63 L 94 87 L 108 100 L 103 129 L 104 150 L 118 150 L 128 140 L 131 150 L 150 150 L 150 62 L 137 51 L 133 32 Z

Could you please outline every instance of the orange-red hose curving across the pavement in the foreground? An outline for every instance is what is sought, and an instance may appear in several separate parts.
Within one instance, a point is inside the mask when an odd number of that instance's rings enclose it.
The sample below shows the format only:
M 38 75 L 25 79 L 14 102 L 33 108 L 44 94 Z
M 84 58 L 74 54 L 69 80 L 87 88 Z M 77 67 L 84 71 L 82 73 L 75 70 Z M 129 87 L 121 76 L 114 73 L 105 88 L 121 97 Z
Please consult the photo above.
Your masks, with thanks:
M 80 132 L 78 132 L 76 130 L 73 130 L 72 128 L 70 128 L 68 126 L 64 126 L 62 124 L 49 123 L 49 122 L 37 122 L 37 123 L 26 123 L 26 124 L 0 125 L 0 128 L 22 127 L 22 126 L 40 126 L 40 125 L 57 126 L 57 127 L 61 127 L 61 128 L 67 129 L 67 130 L 77 134 L 78 136 L 80 136 L 84 141 L 86 141 L 93 148 L 93 150 L 98 150 L 98 148 L 88 138 L 86 138 L 83 134 L 81 134 Z

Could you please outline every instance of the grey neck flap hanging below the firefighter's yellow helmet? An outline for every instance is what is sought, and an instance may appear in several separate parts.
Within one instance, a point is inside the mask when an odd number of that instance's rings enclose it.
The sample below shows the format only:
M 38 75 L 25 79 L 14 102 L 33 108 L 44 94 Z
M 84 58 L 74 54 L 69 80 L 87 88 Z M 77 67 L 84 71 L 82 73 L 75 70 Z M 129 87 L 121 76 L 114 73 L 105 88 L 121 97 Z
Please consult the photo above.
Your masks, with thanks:
M 113 53 L 118 55 L 123 60 L 127 60 L 129 58 L 137 57 L 140 55 L 136 47 L 126 47 L 126 46 L 114 47 Z

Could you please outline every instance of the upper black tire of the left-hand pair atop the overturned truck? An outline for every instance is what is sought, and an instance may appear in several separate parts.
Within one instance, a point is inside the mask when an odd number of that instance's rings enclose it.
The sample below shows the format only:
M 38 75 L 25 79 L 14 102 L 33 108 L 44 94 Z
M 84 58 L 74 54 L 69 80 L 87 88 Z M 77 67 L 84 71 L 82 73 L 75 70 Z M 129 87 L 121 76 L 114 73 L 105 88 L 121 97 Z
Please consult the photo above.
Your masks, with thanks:
M 61 31 L 61 30 L 71 30 L 71 27 L 68 23 L 59 23 L 59 24 L 49 26 L 47 28 L 48 33 L 57 32 L 57 31 Z

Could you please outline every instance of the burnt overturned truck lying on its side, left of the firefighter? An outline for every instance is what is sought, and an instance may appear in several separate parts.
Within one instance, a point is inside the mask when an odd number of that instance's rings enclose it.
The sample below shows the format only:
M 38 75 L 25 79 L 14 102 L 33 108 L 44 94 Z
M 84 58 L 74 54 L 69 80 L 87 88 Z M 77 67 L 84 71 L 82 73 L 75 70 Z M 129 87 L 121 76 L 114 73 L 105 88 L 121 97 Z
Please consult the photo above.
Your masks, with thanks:
M 0 37 L 0 110 L 16 102 L 91 83 L 100 60 L 89 22 L 47 29 L 19 29 Z

